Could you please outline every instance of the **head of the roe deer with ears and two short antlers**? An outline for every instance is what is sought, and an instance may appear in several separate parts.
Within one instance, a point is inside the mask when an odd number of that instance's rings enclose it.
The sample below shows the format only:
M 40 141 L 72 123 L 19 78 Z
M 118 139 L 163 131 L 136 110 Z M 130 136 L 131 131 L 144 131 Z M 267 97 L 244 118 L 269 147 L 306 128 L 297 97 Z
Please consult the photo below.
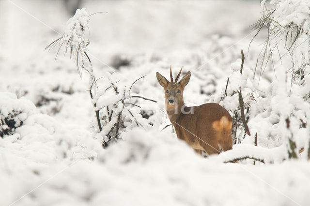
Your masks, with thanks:
M 165 90 L 165 104 L 166 110 L 174 110 L 176 108 L 181 108 L 184 105 L 183 102 L 183 90 L 190 79 L 190 72 L 187 72 L 182 79 L 178 82 L 178 79 L 181 75 L 182 68 L 179 74 L 176 76 L 175 81 L 173 82 L 171 66 L 170 66 L 170 82 L 161 74 L 156 72 L 156 78 L 158 83 L 164 88 Z

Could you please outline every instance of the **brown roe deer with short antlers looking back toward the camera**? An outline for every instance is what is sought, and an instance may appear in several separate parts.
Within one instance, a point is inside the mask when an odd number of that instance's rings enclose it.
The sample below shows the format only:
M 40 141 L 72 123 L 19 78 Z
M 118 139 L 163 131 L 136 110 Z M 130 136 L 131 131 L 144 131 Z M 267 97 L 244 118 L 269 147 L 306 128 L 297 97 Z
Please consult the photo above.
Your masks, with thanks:
M 169 82 L 156 73 L 159 84 L 165 89 L 165 105 L 168 117 L 179 139 L 195 149 L 204 150 L 208 155 L 220 153 L 218 145 L 226 151 L 232 149 L 232 117 L 224 107 L 217 103 L 205 103 L 187 107 L 183 102 L 183 90 L 189 82 L 190 72 L 178 81 L 181 70 L 173 82 L 171 66 Z

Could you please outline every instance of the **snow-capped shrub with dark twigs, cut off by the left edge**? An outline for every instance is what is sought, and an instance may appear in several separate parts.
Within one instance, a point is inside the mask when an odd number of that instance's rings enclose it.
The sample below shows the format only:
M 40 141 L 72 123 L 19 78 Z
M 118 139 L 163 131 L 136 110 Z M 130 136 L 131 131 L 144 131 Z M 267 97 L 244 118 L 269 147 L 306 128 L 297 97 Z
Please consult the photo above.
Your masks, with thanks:
M 25 98 L 17 99 L 12 93 L 0 93 L 0 137 L 14 134 L 34 109 L 34 104 Z

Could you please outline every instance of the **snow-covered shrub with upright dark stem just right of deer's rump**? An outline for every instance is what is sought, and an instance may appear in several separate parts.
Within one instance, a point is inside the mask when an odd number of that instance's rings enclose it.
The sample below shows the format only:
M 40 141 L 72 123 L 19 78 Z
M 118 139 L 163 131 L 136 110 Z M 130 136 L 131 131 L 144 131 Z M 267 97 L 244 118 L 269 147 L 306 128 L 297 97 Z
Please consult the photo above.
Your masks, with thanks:
M 234 147 L 229 157 L 224 159 L 256 159 L 262 162 L 281 162 L 297 158 L 300 149 L 309 149 L 310 132 L 307 122 L 310 119 L 310 104 L 302 96 L 289 95 L 289 85 L 284 70 L 279 70 L 278 78 L 271 85 L 263 88 L 254 78 L 254 68 L 243 67 L 240 73 L 241 59 L 232 64 L 232 74 L 226 94 L 212 96 L 211 100 L 223 105 L 233 116 L 233 138 L 235 143 L 247 143 L 259 147 L 274 148 L 273 152 L 263 149 L 245 149 Z M 265 91 L 263 91 L 263 89 Z M 242 122 L 240 92 L 245 108 L 245 119 L 249 131 L 246 135 Z M 286 148 L 286 149 L 285 149 Z M 240 150 L 240 151 L 238 151 Z M 248 153 L 247 151 L 253 150 Z M 278 152 L 278 154 L 274 154 Z M 272 154 L 273 153 L 273 154 Z M 308 156 L 308 155 L 306 155 Z M 265 158 L 265 159 L 264 159 Z

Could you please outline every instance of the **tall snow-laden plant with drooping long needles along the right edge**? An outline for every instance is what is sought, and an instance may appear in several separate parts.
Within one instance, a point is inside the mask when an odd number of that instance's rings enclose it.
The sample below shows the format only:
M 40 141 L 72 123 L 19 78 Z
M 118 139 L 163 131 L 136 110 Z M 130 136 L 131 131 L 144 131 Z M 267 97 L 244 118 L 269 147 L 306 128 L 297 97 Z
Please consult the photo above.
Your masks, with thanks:
M 282 138 L 289 135 L 284 138 L 287 141 L 283 140 L 287 142 L 289 156 L 295 157 L 293 153 L 298 153 L 298 145 L 299 149 L 309 147 L 310 134 L 306 128 L 310 120 L 310 1 L 271 0 L 270 4 L 276 8 L 267 10 L 265 0 L 262 2 L 263 19 L 258 25 L 268 28 L 261 59 L 262 63 L 271 60 L 275 74 L 279 75 L 272 88 L 272 103 L 281 103 L 273 110 L 278 110 L 282 122 Z

